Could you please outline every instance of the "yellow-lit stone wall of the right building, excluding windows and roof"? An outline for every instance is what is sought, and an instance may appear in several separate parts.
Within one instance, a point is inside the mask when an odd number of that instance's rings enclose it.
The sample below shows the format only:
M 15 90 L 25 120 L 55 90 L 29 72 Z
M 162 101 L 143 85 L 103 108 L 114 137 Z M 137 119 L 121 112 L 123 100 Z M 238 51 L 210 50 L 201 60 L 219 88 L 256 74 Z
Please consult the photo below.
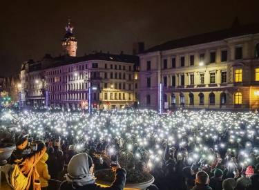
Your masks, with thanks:
M 140 54 L 140 106 L 158 110 L 158 87 L 162 82 L 163 93 L 167 96 L 170 108 L 258 108 L 258 97 L 254 95 L 255 91 L 259 90 L 259 82 L 256 81 L 256 68 L 259 68 L 259 57 L 256 57 L 258 42 L 259 34 L 246 35 L 196 46 Z M 242 47 L 242 59 L 236 59 L 238 47 Z M 227 61 L 222 61 L 222 50 L 227 50 Z M 213 63 L 211 63 L 212 52 L 215 52 Z M 201 54 L 204 54 L 203 61 L 200 60 Z M 191 55 L 194 55 L 193 66 L 190 61 Z M 184 66 L 181 66 L 181 57 L 184 57 Z M 175 68 L 172 66 L 173 58 L 175 58 Z M 167 61 L 166 68 L 164 60 Z M 148 61 L 151 61 L 150 70 L 147 70 Z M 239 69 L 242 70 L 242 82 L 236 82 L 235 79 L 235 72 Z M 227 73 L 226 82 L 222 82 L 224 72 Z M 211 82 L 210 79 L 213 73 L 215 82 Z M 204 74 L 204 84 L 200 84 L 201 74 Z M 193 84 L 190 82 L 191 75 L 194 78 Z M 183 85 L 181 76 L 184 76 Z M 147 88 L 148 77 L 151 77 L 149 88 Z M 190 93 L 193 93 L 193 104 L 190 104 Z M 200 104 L 200 93 L 204 94 L 204 104 Z M 210 93 L 215 94 L 215 104 L 209 102 Z M 226 94 L 225 104 L 222 104 L 222 93 Z M 236 93 L 242 94 L 242 104 L 235 104 Z M 184 95 L 184 104 L 180 104 L 181 94 Z M 151 95 L 150 104 L 146 104 L 148 95 Z M 175 103 L 172 102 L 172 95 L 175 95 Z

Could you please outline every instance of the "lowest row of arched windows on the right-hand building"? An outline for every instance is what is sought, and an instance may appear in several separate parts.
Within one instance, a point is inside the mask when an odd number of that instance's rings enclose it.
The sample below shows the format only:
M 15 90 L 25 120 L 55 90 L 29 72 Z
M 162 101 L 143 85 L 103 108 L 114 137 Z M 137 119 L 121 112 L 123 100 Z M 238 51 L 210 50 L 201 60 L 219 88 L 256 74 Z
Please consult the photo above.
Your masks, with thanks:
M 203 105 L 204 104 L 204 94 L 199 93 L 199 104 Z M 176 104 L 175 101 L 175 94 L 171 95 L 171 104 Z M 167 95 L 165 94 L 163 96 L 163 101 L 168 102 Z M 227 94 L 226 93 L 221 93 L 220 94 L 220 104 L 224 105 L 227 102 Z M 151 95 L 146 96 L 146 104 L 151 104 Z M 185 104 L 185 99 L 184 99 L 184 94 L 180 94 L 180 104 Z M 194 95 L 193 93 L 189 94 L 189 104 L 193 105 L 194 104 Z M 214 93 L 209 93 L 209 104 L 210 105 L 215 105 L 215 94 Z M 235 93 L 234 94 L 234 104 L 242 104 L 242 93 Z

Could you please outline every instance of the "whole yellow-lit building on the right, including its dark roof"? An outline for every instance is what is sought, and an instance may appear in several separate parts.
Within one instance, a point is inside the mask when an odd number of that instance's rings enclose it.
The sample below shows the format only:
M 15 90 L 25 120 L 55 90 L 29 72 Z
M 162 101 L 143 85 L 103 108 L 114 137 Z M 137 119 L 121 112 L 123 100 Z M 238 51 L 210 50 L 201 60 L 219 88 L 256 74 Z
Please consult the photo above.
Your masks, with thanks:
M 140 56 L 140 106 L 259 107 L 259 24 L 168 41 Z

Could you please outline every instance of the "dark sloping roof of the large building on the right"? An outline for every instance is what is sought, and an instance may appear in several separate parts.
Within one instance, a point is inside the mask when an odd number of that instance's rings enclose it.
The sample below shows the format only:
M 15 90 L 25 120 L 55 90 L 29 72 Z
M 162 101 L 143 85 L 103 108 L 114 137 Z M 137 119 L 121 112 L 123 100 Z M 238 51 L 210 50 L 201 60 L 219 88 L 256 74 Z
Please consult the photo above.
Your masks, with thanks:
M 147 50 L 144 50 L 143 53 L 150 53 L 150 52 L 162 51 L 162 50 L 171 50 L 175 48 L 183 48 L 186 46 L 205 44 L 212 41 L 219 41 L 219 40 L 227 39 L 231 37 L 238 37 L 242 35 L 250 35 L 250 34 L 256 34 L 256 33 L 259 33 L 259 23 L 240 26 L 238 19 L 236 19 L 233 25 L 231 26 L 231 28 L 218 30 L 215 32 L 209 32 L 202 35 L 184 37 L 182 39 L 174 39 L 171 41 L 167 41 L 164 44 L 160 44 L 152 48 L 149 48 Z

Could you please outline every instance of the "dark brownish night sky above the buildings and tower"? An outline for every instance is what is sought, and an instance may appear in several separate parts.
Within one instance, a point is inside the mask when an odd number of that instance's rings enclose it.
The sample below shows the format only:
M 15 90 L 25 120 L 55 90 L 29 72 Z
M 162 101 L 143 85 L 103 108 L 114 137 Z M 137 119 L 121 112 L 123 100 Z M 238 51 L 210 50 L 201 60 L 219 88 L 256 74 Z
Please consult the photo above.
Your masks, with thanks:
M 68 16 L 77 56 L 93 50 L 132 54 L 136 41 L 144 41 L 147 49 L 229 28 L 235 17 L 242 25 L 259 22 L 258 8 L 258 0 L 1 1 L 0 76 L 20 73 L 28 59 L 62 55 Z

